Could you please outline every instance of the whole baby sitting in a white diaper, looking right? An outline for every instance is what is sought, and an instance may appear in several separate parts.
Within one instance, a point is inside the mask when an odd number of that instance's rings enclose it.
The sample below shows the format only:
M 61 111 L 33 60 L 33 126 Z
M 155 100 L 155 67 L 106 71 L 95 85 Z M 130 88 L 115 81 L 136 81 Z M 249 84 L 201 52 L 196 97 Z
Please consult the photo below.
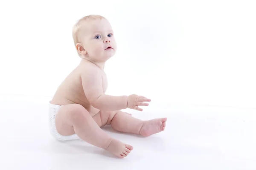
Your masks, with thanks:
M 167 118 L 142 121 L 120 111 L 130 108 L 143 111 L 151 100 L 132 94 L 110 96 L 104 72 L 105 62 L 116 53 L 116 41 L 105 17 L 89 15 L 81 18 L 73 28 L 79 65 L 64 79 L 49 102 L 51 134 L 66 141 L 82 139 L 96 147 L 123 158 L 133 150 L 130 144 L 113 139 L 101 127 L 111 125 L 114 130 L 150 136 L 163 131 Z

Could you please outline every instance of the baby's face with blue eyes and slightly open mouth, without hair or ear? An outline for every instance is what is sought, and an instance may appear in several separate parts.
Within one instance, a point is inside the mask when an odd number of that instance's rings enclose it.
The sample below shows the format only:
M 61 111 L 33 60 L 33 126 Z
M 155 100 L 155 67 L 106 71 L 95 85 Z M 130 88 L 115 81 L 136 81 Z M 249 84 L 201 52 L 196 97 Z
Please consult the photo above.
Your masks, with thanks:
M 116 40 L 106 19 L 86 21 L 81 36 L 85 56 L 96 62 L 105 62 L 116 53 Z

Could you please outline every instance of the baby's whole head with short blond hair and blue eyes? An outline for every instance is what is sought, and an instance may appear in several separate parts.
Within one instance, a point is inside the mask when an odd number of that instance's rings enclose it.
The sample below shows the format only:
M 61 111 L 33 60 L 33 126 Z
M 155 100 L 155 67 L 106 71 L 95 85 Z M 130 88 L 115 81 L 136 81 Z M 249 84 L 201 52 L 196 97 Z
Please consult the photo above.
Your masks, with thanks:
M 89 15 L 73 28 L 73 40 L 81 58 L 105 62 L 116 52 L 113 30 L 105 17 Z

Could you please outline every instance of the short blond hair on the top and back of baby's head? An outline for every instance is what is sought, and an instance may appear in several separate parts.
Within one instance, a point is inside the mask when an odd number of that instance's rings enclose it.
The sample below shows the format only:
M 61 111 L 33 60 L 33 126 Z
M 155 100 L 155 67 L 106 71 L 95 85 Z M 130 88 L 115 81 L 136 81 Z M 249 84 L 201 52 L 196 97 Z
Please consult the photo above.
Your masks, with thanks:
M 105 17 L 103 17 L 101 15 L 87 15 L 85 17 L 82 17 L 80 20 L 78 20 L 76 22 L 76 24 L 73 26 L 73 30 L 72 30 L 72 36 L 73 36 L 73 41 L 74 41 L 75 46 L 77 43 L 80 42 L 79 33 L 82 28 L 82 23 L 87 20 L 96 20 L 96 19 L 105 19 Z M 78 51 L 77 51 L 77 53 L 78 53 Z M 79 54 L 79 56 L 81 57 L 80 54 Z

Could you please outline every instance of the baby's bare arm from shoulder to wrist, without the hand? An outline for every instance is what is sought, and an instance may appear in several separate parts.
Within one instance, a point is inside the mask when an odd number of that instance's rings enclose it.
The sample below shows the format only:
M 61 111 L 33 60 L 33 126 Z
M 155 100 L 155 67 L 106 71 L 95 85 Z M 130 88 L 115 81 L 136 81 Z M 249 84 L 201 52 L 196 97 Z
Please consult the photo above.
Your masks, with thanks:
M 84 94 L 90 104 L 102 111 L 117 111 L 127 108 L 128 96 L 110 96 L 103 92 L 102 74 L 97 68 L 90 68 L 81 74 Z

